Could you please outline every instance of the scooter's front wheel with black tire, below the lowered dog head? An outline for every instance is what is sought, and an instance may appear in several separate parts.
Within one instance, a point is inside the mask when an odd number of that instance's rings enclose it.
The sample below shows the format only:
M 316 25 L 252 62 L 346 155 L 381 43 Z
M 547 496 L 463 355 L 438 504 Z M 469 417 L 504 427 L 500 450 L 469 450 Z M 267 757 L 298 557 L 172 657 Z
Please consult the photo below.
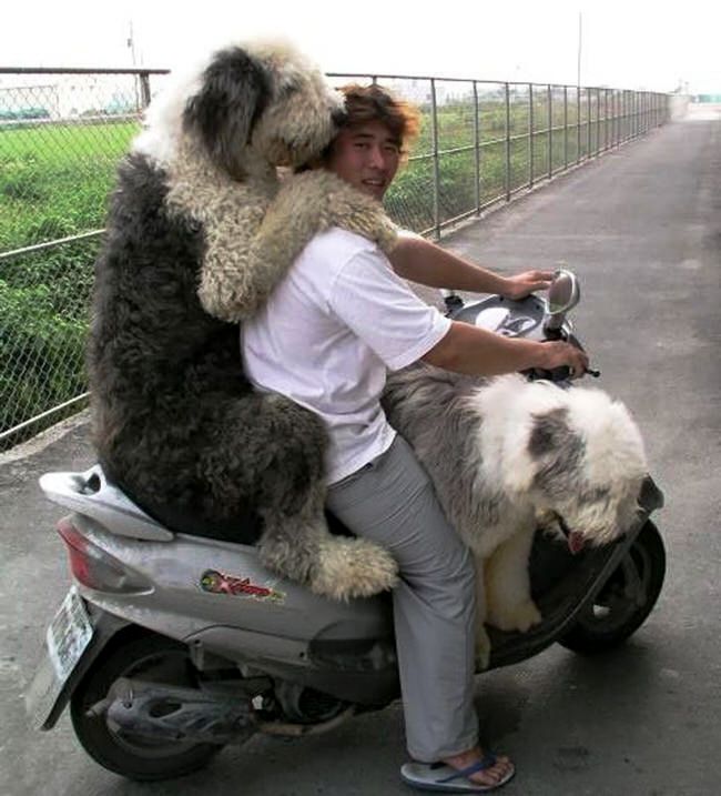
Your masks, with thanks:
M 656 525 L 647 522 L 626 557 L 559 644 L 581 655 L 618 647 L 651 613 L 664 575 L 663 540 Z

